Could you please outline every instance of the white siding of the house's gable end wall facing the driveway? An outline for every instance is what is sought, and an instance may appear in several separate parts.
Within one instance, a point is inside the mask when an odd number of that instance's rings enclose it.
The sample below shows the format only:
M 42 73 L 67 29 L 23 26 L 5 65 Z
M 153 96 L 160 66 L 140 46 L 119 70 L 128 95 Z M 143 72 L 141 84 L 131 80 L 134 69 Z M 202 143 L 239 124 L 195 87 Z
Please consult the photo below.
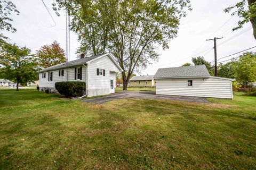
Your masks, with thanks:
M 88 97 L 109 94 L 110 71 L 119 72 L 118 67 L 113 63 L 113 61 L 111 61 L 111 59 L 108 56 L 104 56 L 102 58 L 99 58 L 98 60 L 91 62 L 87 65 L 87 67 Z M 97 69 L 104 69 L 105 76 L 97 75 Z M 115 74 L 113 74 L 113 76 L 115 76 Z

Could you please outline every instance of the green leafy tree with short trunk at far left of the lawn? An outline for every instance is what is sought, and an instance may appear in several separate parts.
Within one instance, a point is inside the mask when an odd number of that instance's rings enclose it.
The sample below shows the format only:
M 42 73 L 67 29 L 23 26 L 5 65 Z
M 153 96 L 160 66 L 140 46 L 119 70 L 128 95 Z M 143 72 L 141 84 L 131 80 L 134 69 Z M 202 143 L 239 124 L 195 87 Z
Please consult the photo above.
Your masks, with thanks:
M 38 80 L 36 71 L 36 58 L 30 55 L 31 50 L 27 47 L 19 47 L 15 44 L 5 43 L 0 50 L 0 76 L 3 79 L 17 83 L 27 83 Z

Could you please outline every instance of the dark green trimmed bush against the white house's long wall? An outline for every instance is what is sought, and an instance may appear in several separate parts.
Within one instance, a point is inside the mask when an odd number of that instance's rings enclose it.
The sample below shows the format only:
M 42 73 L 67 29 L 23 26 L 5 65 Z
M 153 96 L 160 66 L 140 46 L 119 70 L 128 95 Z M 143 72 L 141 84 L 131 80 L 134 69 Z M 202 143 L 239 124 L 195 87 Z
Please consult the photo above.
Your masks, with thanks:
M 79 81 L 63 81 L 56 82 L 55 88 L 61 95 L 66 97 L 80 97 L 85 94 L 85 82 Z

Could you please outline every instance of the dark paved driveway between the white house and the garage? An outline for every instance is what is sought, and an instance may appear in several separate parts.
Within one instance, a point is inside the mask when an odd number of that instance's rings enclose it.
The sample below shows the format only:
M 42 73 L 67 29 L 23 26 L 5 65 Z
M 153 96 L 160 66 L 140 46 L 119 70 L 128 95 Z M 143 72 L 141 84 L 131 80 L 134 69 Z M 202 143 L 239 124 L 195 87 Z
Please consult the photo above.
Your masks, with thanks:
M 170 95 L 156 95 L 155 91 L 119 91 L 117 94 L 110 96 L 97 97 L 92 99 L 85 99 L 86 103 L 102 104 L 108 101 L 126 98 L 136 99 L 165 99 L 165 100 L 182 100 L 194 101 L 199 103 L 209 103 L 204 97 L 189 97 L 189 96 L 170 96 Z

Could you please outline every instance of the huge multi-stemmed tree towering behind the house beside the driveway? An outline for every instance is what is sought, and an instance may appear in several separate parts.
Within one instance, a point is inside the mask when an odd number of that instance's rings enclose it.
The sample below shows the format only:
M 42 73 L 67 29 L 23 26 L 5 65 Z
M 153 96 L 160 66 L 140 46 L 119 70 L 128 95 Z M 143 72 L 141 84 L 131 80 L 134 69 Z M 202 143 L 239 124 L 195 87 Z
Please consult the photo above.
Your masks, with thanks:
M 57 0 L 54 10 L 65 7 L 73 20 L 71 29 L 81 40 L 84 53 L 111 52 L 122 72 L 123 90 L 134 71 L 158 60 L 157 46 L 169 48 L 177 36 L 189 0 Z M 126 75 L 127 73 L 127 75 Z

